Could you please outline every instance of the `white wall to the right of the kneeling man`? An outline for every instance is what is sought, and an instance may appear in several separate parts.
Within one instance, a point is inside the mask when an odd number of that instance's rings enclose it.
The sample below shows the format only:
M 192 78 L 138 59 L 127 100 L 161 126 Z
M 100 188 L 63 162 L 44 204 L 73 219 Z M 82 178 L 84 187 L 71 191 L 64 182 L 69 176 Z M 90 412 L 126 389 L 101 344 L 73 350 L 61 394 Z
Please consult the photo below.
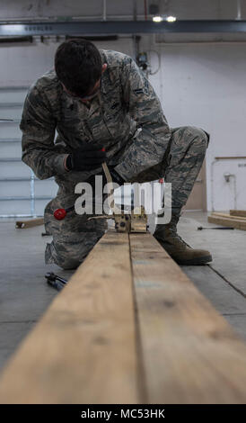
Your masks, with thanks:
M 161 54 L 162 67 L 151 80 L 170 125 L 194 125 L 211 134 L 206 154 L 207 205 L 211 210 L 215 157 L 246 156 L 246 43 L 174 44 L 155 49 Z M 245 165 L 245 159 L 214 165 L 215 210 L 235 205 L 233 178 L 226 183 L 224 173 L 235 175 L 236 205 L 246 208 Z

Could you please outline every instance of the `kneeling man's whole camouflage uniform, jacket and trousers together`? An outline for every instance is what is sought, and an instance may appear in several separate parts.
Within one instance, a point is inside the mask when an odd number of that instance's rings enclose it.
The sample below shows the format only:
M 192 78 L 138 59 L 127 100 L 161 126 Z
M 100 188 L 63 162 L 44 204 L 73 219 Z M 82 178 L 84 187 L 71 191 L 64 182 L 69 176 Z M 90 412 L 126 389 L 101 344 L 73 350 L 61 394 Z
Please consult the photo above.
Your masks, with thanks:
M 66 171 L 64 158 L 80 147 L 81 140 L 101 142 L 108 164 L 127 182 L 165 176 L 172 183 L 176 206 L 185 204 L 206 152 L 203 130 L 169 128 L 153 87 L 132 58 L 111 50 L 101 50 L 101 58 L 108 67 L 90 108 L 66 94 L 50 70 L 31 85 L 22 112 L 22 161 L 40 179 L 55 176 L 59 186 L 57 197 L 45 210 L 46 229 L 53 235 L 46 263 L 64 268 L 78 266 L 107 225 L 105 220 L 88 220 L 88 215 L 75 211 L 64 220 L 53 217 L 57 208 L 74 205 L 77 183 L 102 172 L 101 167 L 90 172 Z

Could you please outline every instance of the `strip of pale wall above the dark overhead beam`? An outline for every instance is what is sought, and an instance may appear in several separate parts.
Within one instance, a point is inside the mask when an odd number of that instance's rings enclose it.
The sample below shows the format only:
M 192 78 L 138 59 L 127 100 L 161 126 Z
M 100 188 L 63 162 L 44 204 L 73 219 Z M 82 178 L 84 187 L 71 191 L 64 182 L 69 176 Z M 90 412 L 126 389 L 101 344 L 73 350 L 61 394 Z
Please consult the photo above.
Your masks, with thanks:
M 136 14 L 144 16 L 144 0 L 107 0 L 107 16 L 124 19 L 131 17 L 136 4 Z M 179 19 L 235 19 L 237 0 L 147 0 L 147 4 L 160 4 L 162 14 L 174 14 Z M 1 19 L 18 18 L 100 18 L 103 0 L 1 0 Z M 242 19 L 246 15 L 246 2 L 241 0 Z

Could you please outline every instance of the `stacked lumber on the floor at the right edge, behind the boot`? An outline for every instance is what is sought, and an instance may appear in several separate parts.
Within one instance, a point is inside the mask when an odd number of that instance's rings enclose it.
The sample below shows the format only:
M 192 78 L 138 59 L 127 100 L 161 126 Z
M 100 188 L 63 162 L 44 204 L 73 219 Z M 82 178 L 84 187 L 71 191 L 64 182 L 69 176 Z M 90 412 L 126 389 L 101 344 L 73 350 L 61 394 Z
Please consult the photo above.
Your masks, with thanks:
M 230 214 L 214 211 L 211 216 L 208 216 L 207 221 L 217 225 L 246 230 L 246 211 L 230 210 Z

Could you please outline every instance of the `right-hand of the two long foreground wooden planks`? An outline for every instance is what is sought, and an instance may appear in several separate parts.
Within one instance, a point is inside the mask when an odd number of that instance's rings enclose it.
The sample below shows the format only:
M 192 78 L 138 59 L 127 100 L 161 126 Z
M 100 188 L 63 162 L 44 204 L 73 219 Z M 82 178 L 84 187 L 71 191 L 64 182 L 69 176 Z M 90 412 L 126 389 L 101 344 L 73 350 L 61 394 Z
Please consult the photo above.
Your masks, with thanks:
M 150 234 L 130 234 L 147 403 L 245 403 L 246 345 Z

